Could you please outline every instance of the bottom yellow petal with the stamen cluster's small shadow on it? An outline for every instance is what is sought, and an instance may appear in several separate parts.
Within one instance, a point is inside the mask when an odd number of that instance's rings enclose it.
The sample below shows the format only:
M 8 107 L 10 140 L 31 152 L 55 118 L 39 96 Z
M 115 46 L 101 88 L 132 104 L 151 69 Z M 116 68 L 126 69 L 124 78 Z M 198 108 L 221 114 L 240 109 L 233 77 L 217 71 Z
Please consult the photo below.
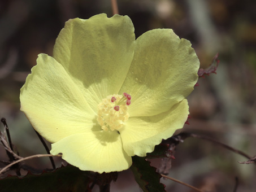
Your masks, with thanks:
M 123 171 L 132 165 L 132 158 L 122 147 L 117 132 L 89 132 L 74 134 L 53 143 L 51 154 L 62 153 L 62 158 L 83 171 Z

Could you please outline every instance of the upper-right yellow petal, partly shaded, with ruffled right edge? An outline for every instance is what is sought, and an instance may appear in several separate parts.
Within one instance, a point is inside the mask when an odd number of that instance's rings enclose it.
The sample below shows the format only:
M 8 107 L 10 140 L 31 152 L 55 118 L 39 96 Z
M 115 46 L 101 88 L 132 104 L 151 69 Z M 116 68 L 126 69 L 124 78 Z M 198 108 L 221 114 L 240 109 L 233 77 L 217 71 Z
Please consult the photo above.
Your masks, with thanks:
M 130 116 L 153 116 L 170 110 L 193 90 L 198 68 L 190 42 L 171 29 L 142 34 L 136 40 L 134 59 L 120 90 L 132 96 Z

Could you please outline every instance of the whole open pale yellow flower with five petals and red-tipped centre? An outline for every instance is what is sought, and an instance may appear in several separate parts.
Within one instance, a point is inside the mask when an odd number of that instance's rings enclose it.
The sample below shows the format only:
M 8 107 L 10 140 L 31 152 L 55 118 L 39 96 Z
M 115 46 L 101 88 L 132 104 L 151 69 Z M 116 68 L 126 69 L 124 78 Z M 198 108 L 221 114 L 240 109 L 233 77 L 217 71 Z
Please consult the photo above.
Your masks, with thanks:
M 190 42 L 171 29 L 135 40 L 128 16 L 71 19 L 53 57 L 38 55 L 21 111 L 51 154 L 85 171 L 122 171 L 183 127 L 198 68 Z

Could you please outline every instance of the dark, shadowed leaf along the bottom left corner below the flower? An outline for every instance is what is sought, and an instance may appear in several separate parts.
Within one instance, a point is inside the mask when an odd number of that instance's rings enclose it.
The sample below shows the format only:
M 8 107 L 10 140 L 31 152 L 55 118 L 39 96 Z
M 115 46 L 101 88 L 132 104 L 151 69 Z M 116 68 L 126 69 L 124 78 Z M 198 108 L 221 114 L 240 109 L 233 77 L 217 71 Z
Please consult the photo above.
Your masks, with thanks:
M 87 174 L 88 172 L 68 165 L 54 172 L 44 172 L 40 175 L 28 173 L 22 178 L 8 176 L 0 180 L 0 191 L 80 192 L 88 188 L 90 180 Z

